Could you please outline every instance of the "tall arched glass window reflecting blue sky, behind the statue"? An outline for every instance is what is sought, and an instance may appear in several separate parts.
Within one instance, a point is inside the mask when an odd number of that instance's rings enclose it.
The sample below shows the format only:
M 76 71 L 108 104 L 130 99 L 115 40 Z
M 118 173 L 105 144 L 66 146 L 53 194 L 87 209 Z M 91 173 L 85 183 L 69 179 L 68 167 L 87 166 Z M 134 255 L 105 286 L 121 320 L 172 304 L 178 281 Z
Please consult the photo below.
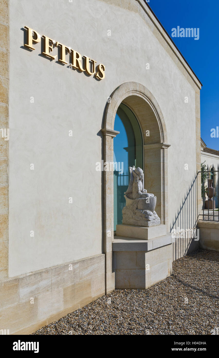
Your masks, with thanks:
M 143 169 L 143 139 L 134 113 L 124 104 L 116 112 L 114 130 L 120 133 L 113 140 L 114 163 L 114 231 L 122 223 L 122 209 L 125 206 L 124 192 L 130 180 L 129 166 Z

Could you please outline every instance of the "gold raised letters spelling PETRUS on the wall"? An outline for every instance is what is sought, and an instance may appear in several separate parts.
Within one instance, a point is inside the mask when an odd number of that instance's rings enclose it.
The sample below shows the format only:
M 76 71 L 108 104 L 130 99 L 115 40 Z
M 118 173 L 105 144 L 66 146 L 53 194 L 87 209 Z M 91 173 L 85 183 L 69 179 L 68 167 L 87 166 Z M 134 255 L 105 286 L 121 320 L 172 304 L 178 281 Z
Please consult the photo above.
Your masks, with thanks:
M 24 26 L 27 30 L 27 43 L 24 44 L 25 47 L 28 47 L 31 50 L 35 50 L 33 47 L 33 43 L 38 43 L 41 41 L 41 36 L 35 30 L 31 29 L 28 26 Z M 49 57 L 51 59 L 55 59 L 57 55 L 52 55 L 51 52 L 55 47 L 59 47 L 58 51 L 58 61 L 64 64 L 67 64 L 66 61 L 66 52 L 69 54 L 69 67 L 76 68 L 81 72 L 86 72 L 88 75 L 94 74 L 97 79 L 104 79 L 105 78 L 105 66 L 100 63 L 96 66 L 96 61 L 87 57 L 81 56 L 81 54 L 64 44 L 54 41 L 47 36 L 42 36 L 43 38 L 43 51 L 41 52 L 42 55 Z M 83 67 L 84 66 L 84 67 Z

